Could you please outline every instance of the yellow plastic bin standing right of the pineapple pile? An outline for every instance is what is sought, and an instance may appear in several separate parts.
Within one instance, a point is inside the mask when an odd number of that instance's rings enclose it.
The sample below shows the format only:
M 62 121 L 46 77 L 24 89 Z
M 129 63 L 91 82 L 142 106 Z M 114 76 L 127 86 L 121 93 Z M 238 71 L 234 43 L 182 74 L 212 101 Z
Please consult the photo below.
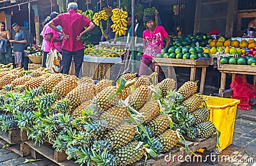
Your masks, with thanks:
M 223 150 L 232 144 L 236 110 L 240 100 L 213 96 L 204 97 L 209 98 L 205 101 L 208 109 L 211 109 L 209 120 L 221 132 L 219 141 L 220 148 Z

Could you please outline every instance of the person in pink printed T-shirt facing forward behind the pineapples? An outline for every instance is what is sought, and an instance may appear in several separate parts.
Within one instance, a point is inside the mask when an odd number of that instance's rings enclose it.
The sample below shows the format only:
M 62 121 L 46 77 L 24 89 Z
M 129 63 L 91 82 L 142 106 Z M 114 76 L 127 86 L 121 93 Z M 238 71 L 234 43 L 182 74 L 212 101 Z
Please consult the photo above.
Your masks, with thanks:
M 143 31 L 143 45 L 145 47 L 145 52 L 142 56 L 139 76 L 147 74 L 150 64 L 152 64 L 155 70 L 155 65 L 152 63 L 152 57 L 156 57 L 156 54 L 161 52 L 164 39 L 166 40 L 166 49 L 168 49 L 171 43 L 168 33 L 166 33 L 164 27 L 155 25 L 155 18 L 156 16 L 152 13 L 146 13 L 143 16 L 143 22 L 146 24 L 148 29 Z

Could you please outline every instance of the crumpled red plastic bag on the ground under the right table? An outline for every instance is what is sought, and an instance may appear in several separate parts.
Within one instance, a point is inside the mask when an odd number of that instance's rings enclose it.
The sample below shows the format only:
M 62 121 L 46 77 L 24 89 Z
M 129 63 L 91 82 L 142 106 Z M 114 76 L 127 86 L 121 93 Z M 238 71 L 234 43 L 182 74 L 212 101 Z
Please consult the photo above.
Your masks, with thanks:
M 249 84 L 243 75 L 237 75 L 230 84 L 230 88 L 233 91 L 232 98 L 240 100 L 238 109 L 250 110 L 249 105 L 250 98 L 256 97 L 256 86 Z

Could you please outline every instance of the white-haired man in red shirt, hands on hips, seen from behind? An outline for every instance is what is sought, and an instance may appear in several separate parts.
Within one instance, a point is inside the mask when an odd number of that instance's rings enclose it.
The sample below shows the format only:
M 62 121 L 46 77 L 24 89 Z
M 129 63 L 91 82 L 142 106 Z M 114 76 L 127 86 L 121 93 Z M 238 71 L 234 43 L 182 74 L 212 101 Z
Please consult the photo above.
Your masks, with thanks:
M 79 77 L 79 72 L 83 64 L 84 47 L 82 36 L 91 31 L 95 25 L 86 16 L 77 13 L 77 3 L 68 3 L 67 13 L 58 15 L 55 19 L 49 22 L 49 27 L 58 31 L 63 36 L 63 43 L 61 46 L 62 54 L 62 73 L 68 73 L 74 59 L 76 76 Z M 62 30 L 56 26 L 61 26 Z M 87 27 L 85 30 L 83 27 Z

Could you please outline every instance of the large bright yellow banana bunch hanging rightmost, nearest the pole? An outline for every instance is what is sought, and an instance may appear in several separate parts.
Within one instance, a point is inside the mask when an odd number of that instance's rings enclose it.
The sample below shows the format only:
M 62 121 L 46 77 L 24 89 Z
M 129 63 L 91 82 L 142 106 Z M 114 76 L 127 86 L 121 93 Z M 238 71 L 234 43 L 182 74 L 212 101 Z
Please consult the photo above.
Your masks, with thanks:
M 127 31 L 127 11 L 115 8 L 112 10 L 112 13 L 113 15 L 111 20 L 113 21 L 113 25 L 111 28 L 113 29 L 113 32 L 115 32 L 115 36 L 117 37 L 118 35 L 125 35 Z

